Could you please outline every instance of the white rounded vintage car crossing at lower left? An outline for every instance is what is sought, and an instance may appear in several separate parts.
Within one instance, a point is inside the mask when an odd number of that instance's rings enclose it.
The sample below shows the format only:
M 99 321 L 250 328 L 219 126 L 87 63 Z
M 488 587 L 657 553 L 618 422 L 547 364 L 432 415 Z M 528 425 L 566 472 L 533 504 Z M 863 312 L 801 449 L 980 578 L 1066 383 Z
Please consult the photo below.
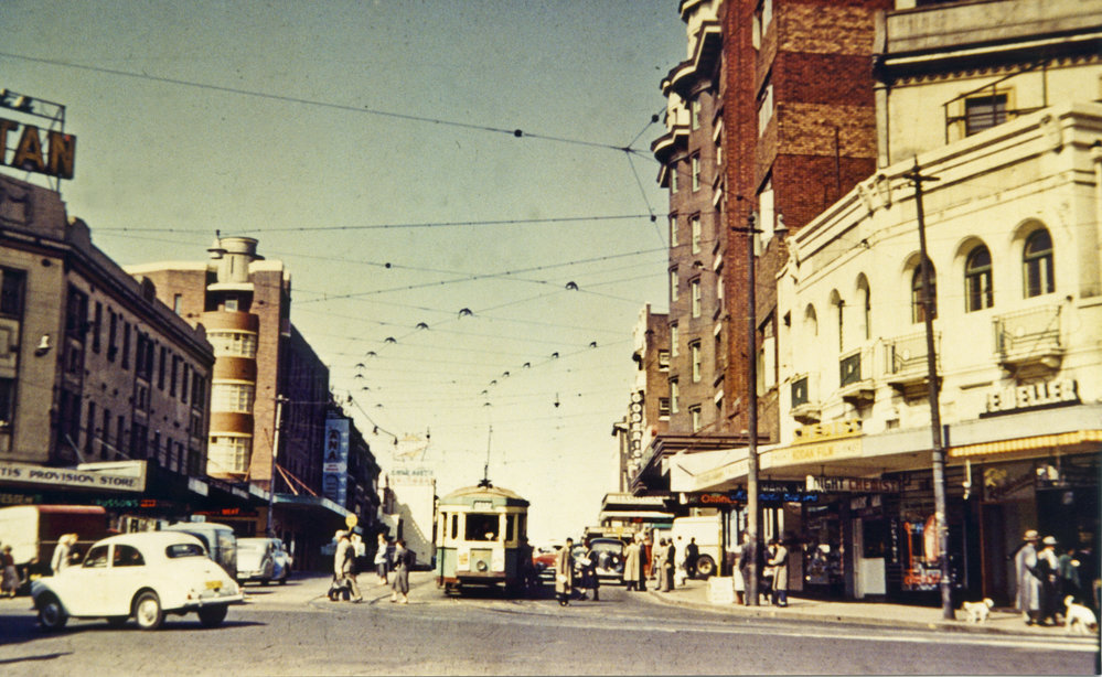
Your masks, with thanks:
M 180 531 L 110 536 L 88 549 L 81 566 L 31 584 L 39 623 L 58 630 L 72 617 L 106 617 L 122 626 L 156 630 L 164 614 L 195 611 L 206 627 L 222 623 L 229 604 L 244 601 L 240 588 L 203 544 Z

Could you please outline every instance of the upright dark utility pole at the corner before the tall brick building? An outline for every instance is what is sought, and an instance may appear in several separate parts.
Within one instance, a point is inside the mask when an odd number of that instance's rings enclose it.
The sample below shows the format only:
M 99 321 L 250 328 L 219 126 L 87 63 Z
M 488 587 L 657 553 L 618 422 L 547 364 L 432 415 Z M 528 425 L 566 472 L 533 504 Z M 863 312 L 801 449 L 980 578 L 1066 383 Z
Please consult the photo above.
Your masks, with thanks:
M 734 227 L 736 233 L 746 233 L 746 406 L 747 406 L 747 474 L 746 474 L 746 530 L 750 537 L 750 578 L 746 581 L 747 603 L 758 605 L 758 552 L 761 552 L 761 534 L 758 528 L 761 519 L 761 505 L 758 503 L 758 312 L 755 280 L 753 236 L 761 230 L 755 227 L 755 216 L 747 216 L 745 228 Z

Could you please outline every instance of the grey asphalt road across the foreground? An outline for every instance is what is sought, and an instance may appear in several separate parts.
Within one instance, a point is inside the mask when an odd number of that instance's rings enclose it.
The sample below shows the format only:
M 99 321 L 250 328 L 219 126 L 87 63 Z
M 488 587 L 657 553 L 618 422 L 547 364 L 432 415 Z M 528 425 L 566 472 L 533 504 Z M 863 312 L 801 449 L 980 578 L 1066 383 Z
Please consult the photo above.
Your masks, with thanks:
M 362 576 L 367 603 L 333 603 L 328 580 L 248 587 L 218 628 L 194 614 L 162 630 L 69 621 L 50 634 L 28 598 L 0 601 L 0 674 L 33 675 L 569 675 L 569 674 L 1096 674 L 1096 645 L 1062 637 L 772 622 L 662 604 L 601 589 L 561 608 L 497 593 L 445 597 L 415 573 L 410 603 Z

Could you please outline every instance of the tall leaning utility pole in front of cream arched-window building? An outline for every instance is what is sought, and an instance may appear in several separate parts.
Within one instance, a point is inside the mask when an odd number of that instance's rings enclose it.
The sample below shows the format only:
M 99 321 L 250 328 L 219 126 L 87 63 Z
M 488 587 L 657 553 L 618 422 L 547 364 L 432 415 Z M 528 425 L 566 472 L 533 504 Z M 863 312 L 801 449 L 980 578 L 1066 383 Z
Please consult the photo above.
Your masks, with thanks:
M 930 259 L 926 248 L 926 214 L 922 211 L 922 183 L 938 181 L 937 176 L 924 176 L 919 170 L 918 158 L 914 168 L 903 174 L 914 186 L 914 208 L 918 215 L 919 256 L 922 267 L 922 324 L 926 327 L 926 370 L 927 398 L 930 401 L 930 437 L 933 451 L 933 522 L 938 529 L 938 550 L 941 567 L 941 610 L 946 621 L 955 617 L 953 613 L 952 590 L 949 581 L 949 525 L 945 520 L 945 448 L 941 438 L 941 408 L 938 405 L 938 354 L 933 345 L 933 313 L 935 300 L 931 288 Z

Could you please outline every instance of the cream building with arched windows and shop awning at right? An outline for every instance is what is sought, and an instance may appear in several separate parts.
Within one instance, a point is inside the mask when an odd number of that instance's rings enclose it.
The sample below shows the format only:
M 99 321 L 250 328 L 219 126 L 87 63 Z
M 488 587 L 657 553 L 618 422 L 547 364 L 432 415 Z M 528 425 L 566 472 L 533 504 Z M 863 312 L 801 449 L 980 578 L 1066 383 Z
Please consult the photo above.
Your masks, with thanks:
M 780 436 L 761 473 L 802 486 L 780 525 L 802 551 L 794 588 L 933 602 L 948 577 L 1007 603 L 1024 530 L 1099 546 L 1102 3 L 899 4 L 877 30 L 880 166 L 787 238 Z M 916 171 L 930 178 L 921 202 Z M 732 490 L 747 465 L 734 450 L 673 485 Z

